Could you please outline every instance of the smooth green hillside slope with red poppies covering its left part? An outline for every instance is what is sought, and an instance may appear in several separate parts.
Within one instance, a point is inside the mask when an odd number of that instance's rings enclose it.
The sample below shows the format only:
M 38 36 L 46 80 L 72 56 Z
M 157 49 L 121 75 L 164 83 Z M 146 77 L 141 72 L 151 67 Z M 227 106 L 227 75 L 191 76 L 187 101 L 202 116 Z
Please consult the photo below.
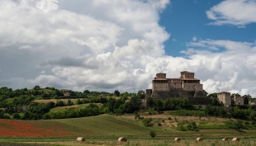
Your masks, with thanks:
M 78 137 L 116 139 L 149 136 L 149 127 L 115 115 L 61 120 L 0 120 L 2 137 Z

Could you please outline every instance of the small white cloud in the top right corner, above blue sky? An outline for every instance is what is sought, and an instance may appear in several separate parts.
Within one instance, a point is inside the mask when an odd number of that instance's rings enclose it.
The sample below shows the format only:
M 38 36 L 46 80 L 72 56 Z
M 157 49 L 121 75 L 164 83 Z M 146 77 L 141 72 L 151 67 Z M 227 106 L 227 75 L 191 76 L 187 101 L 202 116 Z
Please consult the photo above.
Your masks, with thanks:
M 206 11 L 212 25 L 235 25 L 244 27 L 256 22 L 255 0 L 225 0 Z

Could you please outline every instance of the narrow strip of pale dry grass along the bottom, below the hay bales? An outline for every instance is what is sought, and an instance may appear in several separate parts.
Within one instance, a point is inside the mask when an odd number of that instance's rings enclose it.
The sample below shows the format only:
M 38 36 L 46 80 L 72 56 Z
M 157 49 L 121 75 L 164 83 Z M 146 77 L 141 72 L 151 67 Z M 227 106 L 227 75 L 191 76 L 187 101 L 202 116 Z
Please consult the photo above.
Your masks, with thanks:
M 10 143 L 0 141 L 0 146 L 67 146 L 67 145 L 87 145 L 87 146 L 166 146 L 166 145 L 177 145 L 177 146 L 254 146 L 256 145 L 255 139 L 241 139 L 239 142 L 221 141 L 221 139 L 204 139 L 201 142 L 197 142 L 195 139 L 182 139 L 180 142 L 175 142 L 173 139 L 130 139 L 127 142 L 118 142 L 117 140 L 86 140 L 85 142 L 75 141 L 50 141 L 50 142 L 19 142 Z

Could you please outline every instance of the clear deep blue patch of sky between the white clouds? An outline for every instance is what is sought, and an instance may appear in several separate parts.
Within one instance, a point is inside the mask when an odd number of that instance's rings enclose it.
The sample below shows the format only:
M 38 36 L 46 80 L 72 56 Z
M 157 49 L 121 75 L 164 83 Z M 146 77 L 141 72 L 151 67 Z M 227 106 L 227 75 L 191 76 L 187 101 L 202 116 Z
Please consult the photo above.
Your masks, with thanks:
M 195 37 L 198 40 L 233 40 L 254 42 L 256 40 L 256 24 L 252 23 L 239 28 L 234 25 L 210 25 L 211 19 L 206 11 L 222 2 L 221 0 L 206 1 L 171 1 L 160 13 L 159 24 L 171 35 L 164 43 L 166 54 L 183 56 L 181 50 L 187 49 L 186 44 Z M 221 49 L 220 49 L 221 50 Z

